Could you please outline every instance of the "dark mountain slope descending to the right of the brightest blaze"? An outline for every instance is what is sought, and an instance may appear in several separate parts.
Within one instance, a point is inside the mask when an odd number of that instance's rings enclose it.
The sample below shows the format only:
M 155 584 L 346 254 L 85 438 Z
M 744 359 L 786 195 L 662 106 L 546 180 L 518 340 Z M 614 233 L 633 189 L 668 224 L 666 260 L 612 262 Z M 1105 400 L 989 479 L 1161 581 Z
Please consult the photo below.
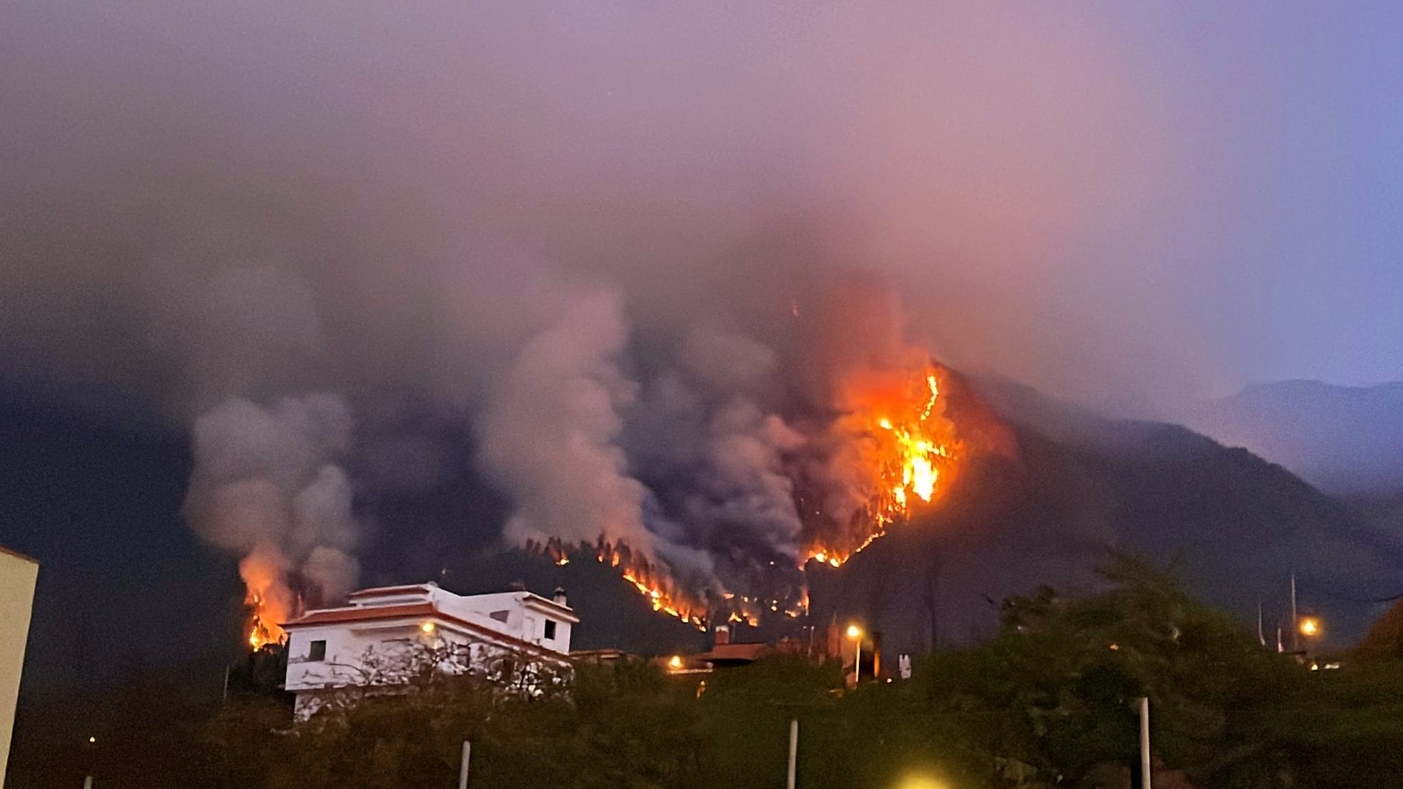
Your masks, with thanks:
M 1000 379 L 951 386 L 947 413 L 993 418 L 1016 452 L 976 452 L 939 507 L 840 570 L 811 573 L 814 611 L 870 622 L 894 649 L 968 643 L 998 601 L 1097 584 L 1107 550 L 1173 566 L 1201 599 L 1289 633 L 1289 577 L 1330 642 L 1361 637 L 1403 591 L 1403 542 L 1352 503 L 1247 449 L 1169 423 L 1108 418 Z M 971 414 L 969 411 L 975 411 Z

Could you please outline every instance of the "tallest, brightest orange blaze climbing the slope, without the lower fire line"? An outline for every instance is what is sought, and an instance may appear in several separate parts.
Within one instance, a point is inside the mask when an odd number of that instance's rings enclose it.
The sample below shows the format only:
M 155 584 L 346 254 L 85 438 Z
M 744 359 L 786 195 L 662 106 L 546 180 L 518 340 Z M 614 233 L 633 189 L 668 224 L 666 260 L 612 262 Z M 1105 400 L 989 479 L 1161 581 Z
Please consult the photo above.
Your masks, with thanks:
M 864 477 L 868 501 L 836 539 L 811 538 L 805 563 L 831 567 L 840 567 L 908 518 L 916 500 L 934 500 L 943 490 L 941 472 L 950 470 L 960 448 L 939 407 L 940 380 L 930 365 L 864 376 L 846 396 L 852 411 L 839 424 L 857 439 L 852 465 Z

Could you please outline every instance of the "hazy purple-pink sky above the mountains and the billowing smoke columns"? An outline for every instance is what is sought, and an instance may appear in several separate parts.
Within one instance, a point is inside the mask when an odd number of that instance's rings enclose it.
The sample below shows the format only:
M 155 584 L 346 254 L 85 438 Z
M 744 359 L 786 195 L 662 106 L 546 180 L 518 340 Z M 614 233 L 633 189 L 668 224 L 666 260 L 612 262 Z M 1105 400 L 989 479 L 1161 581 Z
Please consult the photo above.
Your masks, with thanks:
M 4 372 L 188 417 L 254 264 L 317 376 L 434 386 L 519 256 L 641 343 L 868 270 L 943 358 L 1129 413 L 1403 373 L 1396 4 L 549 8 L 7 4 Z M 313 375 L 269 364 L 233 387 Z

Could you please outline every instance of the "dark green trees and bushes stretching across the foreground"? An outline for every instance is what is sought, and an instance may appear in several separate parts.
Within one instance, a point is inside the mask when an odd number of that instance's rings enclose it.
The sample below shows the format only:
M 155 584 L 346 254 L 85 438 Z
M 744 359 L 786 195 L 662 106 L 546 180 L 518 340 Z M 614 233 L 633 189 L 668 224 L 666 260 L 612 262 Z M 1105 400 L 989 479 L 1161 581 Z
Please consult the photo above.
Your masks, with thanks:
M 1162 786 L 1386 786 L 1403 775 L 1403 663 L 1345 657 L 1309 671 L 1156 569 L 1118 557 L 1106 577 L 1096 595 L 1009 599 L 991 643 L 856 692 L 836 665 L 796 658 L 718 671 L 700 695 L 694 675 L 624 663 L 582 665 L 568 692 L 539 696 L 438 677 L 297 729 L 272 701 L 210 716 L 129 695 L 114 699 L 91 768 L 104 788 L 446 788 L 471 740 L 473 789 L 774 788 L 797 719 L 805 789 L 922 785 L 913 776 L 1122 786 L 1138 761 L 1134 699 L 1148 695 Z M 11 785 L 67 785 L 88 767 L 45 755 L 17 760 Z

